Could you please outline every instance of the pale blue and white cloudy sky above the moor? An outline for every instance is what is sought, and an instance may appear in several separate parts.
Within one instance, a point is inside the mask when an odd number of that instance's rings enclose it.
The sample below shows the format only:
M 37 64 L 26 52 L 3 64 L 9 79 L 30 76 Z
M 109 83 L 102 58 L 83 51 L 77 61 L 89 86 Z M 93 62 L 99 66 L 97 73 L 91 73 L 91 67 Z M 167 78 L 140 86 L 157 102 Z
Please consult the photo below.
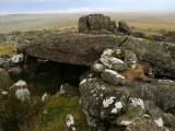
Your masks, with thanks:
M 0 0 L 0 13 L 51 12 L 175 13 L 175 0 Z

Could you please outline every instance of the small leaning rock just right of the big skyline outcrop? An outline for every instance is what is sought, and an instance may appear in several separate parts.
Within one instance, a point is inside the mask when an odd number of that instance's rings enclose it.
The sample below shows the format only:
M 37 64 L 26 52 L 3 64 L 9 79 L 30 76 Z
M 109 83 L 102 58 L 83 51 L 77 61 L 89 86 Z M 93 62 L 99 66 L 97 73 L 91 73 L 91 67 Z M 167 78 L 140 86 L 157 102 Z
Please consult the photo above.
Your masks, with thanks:
M 122 32 L 125 34 L 130 35 L 130 28 L 129 28 L 129 26 L 127 25 L 127 23 L 125 23 L 122 21 L 118 22 L 118 31 Z

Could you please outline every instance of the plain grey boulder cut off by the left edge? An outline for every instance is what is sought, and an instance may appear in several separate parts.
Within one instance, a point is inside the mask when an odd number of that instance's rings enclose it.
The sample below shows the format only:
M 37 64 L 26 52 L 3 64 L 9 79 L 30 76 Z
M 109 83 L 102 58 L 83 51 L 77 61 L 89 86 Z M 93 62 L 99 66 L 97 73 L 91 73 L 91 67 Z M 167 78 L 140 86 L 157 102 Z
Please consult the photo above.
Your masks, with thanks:
M 13 84 L 9 73 L 0 68 L 0 90 L 7 90 Z

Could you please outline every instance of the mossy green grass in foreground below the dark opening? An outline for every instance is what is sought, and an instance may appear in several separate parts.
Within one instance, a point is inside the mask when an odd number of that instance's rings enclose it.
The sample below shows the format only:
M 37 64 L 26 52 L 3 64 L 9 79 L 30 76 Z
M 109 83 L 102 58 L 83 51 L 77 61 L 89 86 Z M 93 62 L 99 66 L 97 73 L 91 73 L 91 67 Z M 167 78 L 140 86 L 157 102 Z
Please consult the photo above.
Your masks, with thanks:
M 47 110 L 47 115 L 43 111 Z M 65 98 L 59 93 L 47 99 L 35 117 L 32 131 L 67 131 L 66 117 L 71 114 L 78 131 L 90 131 L 85 116 L 79 105 L 79 97 Z

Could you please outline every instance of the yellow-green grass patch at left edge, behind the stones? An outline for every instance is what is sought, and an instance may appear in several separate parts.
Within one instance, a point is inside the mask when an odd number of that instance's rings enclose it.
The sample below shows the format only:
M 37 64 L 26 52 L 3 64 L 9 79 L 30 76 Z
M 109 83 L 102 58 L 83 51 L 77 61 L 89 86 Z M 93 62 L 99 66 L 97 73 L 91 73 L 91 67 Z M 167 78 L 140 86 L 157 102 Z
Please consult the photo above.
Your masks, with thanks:
M 16 47 L 14 43 L 0 43 L 0 53 L 13 56 L 16 53 Z

